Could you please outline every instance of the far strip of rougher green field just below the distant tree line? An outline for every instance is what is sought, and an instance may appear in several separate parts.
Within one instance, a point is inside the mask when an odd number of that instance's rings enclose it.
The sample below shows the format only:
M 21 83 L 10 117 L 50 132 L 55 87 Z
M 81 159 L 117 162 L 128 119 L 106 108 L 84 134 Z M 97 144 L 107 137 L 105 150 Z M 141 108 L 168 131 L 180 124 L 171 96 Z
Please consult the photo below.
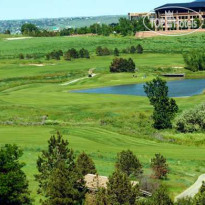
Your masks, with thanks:
M 19 53 L 46 54 L 54 49 L 69 48 L 80 49 L 82 47 L 94 53 L 97 46 L 106 46 L 110 49 L 119 49 L 131 45 L 141 44 L 145 52 L 154 53 L 182 53 L 196 48 L 204 48 L 205 34 L 197 33 L 181 37 L 154 37 L 147 39 L 135 39 L 134 37 L 46 37 L 25 40 L 7 41 L 1 38 L 0 58 L 13 58 Z

